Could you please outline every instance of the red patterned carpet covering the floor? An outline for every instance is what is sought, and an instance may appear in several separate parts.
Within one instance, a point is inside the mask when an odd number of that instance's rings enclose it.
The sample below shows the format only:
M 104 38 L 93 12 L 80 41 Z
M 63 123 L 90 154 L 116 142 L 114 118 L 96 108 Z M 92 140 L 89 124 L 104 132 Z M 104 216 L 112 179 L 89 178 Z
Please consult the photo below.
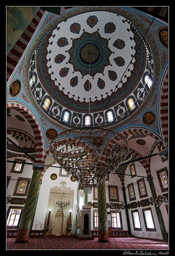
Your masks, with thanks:
M 7 238 L 6 250 L 168 250 L 168 242 L 159 242 L 135 237 L 110 237 L 109 243 L 81 240 L 75 237 L 29 238 L 29 243 L 14 243 Z

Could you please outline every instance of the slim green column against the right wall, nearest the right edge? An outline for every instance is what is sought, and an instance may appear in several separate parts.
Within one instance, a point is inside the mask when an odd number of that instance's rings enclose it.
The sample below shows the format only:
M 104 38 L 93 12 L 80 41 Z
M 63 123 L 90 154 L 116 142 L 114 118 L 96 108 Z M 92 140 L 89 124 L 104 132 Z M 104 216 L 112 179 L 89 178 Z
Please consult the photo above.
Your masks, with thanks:
M 156 197 L 157 195 L 156 195 L 156 192 L 155 192 L 155 189 L 154 189 L 154 183 L 152 181 L 152 177 L 147 178 L 147 180 L 149 181 L 149 184 L 150 184 L 150 189 L 151 189 L 152 196 Z M 166 232 L 166 229 L 165 229 L 165 225 L 164 225 L 164 221 L 163 221 L 163 218 L 162 218 L 161 211 L 156 206 L 155 206 L 155 209 L 156 209 L 156 213 L 157 213 L 158 222 L 159 222 L 159 225 L 160 225 L 160 230 L 161 230 L 161 233 L 162 233 L 162 238 L 164 240 L 167 240 L 167 232 Z

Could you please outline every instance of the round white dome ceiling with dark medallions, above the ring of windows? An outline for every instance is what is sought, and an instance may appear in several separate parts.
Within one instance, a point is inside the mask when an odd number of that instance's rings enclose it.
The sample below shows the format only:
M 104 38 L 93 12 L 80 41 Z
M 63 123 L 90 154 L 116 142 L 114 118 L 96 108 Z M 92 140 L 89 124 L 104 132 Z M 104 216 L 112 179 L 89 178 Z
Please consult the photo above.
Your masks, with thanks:
M 118 108 L 126 111 L 127 97 L 133 95 L 137 101 L 144 90 L 142 78 L 151 52 L 145 42 L 131 21 L 113 12 L 81 13 L 57 23 L 31 56 L 35 65 L 29 66 L 29 73 L 37 76 L 35 99 L 37 88 L 40 99 L 50 95 L 52 107 L 58 105 L 60 111 L 88 113 L 89 99 L 91 113 L 122 101 Z

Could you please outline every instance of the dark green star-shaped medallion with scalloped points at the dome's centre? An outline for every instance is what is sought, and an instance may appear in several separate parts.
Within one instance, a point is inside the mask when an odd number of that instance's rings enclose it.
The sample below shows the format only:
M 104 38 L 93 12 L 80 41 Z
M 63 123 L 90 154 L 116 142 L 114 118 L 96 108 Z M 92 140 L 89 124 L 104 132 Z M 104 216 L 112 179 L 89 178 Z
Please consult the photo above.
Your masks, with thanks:
M 72 40 L 72 47 L 68 52 L 70 55 L 68 63 L 73 65 L 74 71 L 79 71 L 85 76 L 89 74 L 90 64 L 92 77 L 96 73 L 103 73 L 104 68 L 110 65 L 109 57 L 112 54 L 108 48 L 108 39 L 102 38 L 98 31 L 94 33 L 84 31 L 79 38 Z

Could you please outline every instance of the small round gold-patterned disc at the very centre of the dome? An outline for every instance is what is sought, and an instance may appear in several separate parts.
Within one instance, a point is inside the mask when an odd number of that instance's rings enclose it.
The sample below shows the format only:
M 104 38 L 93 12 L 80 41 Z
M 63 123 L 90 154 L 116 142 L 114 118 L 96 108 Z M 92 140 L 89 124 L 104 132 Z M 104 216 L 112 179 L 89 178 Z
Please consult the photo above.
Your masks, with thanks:
M 94 44 L 86 44 L 81 48 L 80 57 L 85 63 L 92 64 L 98 60 L 100 52 Z

